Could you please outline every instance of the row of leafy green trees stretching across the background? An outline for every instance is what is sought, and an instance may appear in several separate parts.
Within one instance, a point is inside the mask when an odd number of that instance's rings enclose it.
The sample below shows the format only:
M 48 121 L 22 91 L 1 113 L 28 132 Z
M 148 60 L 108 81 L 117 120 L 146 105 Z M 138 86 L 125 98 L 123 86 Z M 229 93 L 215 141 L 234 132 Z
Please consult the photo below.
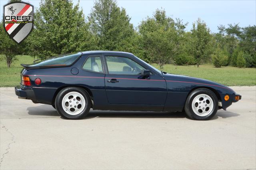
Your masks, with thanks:
M 164 9 L 156 9 L 134 28 L 125 8 L 119 8 L 115 0 L 96 0 L 88 16 L 72 0 L 41 0 L 34 14 L 34 29 L 20 45 L 0 23 L 0 53 L 8 66 L 19 54 L 46 59 L 75 51 L 111 50 L 134 53 L 160 67 L 209 62 L 215 67 L 256 67 L 255 25 L 220 25 L 218 33 L 211 33 L 200 18 L 188 32 L 187 25 L 166 16 Z

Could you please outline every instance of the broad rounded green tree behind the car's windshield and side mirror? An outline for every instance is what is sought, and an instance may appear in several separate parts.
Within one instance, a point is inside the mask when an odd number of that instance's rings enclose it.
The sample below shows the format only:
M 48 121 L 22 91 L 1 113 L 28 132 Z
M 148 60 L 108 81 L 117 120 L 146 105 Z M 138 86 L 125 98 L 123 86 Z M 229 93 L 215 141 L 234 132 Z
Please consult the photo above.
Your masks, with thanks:
M 185 27 L 179 24 L 179 28 L 184 30 Z M 157 9 L 152 18 L 142 21 L 139 33 L 146 58 L 151 63 L 158 63 L 160 69 L 178 53 L 178 31 L 174 20 L 166 16 L 164 10 Z

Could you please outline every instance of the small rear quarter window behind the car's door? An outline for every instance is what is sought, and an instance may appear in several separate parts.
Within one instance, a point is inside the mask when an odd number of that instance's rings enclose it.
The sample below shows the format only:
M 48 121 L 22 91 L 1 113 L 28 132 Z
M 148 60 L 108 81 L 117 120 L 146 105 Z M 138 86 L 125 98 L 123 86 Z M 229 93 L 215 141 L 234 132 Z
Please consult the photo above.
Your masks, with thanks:
M 88 57 L 82 68 L 85 70 L 103 73 L 100 57 Z

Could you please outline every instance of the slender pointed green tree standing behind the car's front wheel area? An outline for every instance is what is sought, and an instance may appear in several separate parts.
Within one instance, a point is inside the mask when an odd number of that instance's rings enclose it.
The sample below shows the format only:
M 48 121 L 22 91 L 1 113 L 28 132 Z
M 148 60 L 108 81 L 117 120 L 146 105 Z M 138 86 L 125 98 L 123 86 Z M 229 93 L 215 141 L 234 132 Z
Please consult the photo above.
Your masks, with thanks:
M 196 59 L 197 67 L 212 53 L 212 35 L 206 23 L 200 18 L 193 23 L 190 51 Z

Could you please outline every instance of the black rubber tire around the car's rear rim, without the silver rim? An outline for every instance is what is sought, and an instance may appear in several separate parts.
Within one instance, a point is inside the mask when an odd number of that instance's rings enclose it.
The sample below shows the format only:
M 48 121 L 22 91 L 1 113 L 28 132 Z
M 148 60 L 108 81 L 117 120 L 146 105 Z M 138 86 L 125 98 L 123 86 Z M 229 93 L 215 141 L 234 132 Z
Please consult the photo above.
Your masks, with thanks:
M 85 107 L 81 111 L 81 113 L 79 113 L 78 115 L 70 115 L 66 111 L 64 111 L 64 109 L 62 107 L 62 99 L 64 98 L 64 96 L 66 94 L 68 94 L 70 92 L 78 92 L 78 93 L 80 93 L 80 95 L 82 95 L 84 97 Z M 82 119 L 82 118 L 86 117 L 86 115 L 88 115 L 88 113 L 90 111 L 90 108 L 91 108 L 90 96 L 84 89 L 81 89 L 78 87 L 67 87 L 67 88 L 62 89 L 56 96 L 55 107 L 56 107 L 57 112 L 60 114 L 60 116 L 62 116 L 65 119 Z

